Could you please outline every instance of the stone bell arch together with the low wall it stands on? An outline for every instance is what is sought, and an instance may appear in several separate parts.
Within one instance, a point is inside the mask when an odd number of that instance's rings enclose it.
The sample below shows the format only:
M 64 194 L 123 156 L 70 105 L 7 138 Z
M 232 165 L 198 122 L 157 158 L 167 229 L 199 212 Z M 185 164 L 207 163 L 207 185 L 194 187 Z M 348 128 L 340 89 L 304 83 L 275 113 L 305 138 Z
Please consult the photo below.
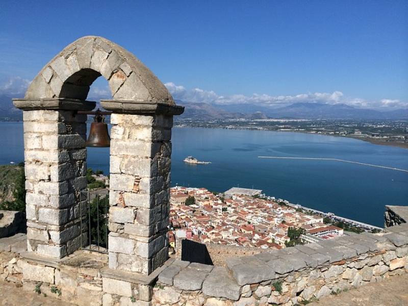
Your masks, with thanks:
M 78 112 L 94 109 L 85 99 L 100 75 L 113 97 L 101 101 L 112 112 L 107 254 L 82 249 L 91 241 L 80 196 L 86 116 Z M 0 240 L 0 275 L 24 290 L 87 306 L 291 306 L 408 271 L 406 223 L 387 233 L 232 254 L 225 266 L 169 259 L 171 128 L 184 109 L 107 39 L 68 45 L 14 105 L 24 120 L 27 236 Z

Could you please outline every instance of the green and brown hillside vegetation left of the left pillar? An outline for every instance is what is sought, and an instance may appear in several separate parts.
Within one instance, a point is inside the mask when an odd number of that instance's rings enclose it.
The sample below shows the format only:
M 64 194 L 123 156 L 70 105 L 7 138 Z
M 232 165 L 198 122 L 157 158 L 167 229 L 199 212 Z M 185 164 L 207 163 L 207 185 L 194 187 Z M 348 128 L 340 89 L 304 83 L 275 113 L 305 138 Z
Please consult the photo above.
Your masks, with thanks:
M 0 210 L 25 211 L 23 163 L 0 165 Z

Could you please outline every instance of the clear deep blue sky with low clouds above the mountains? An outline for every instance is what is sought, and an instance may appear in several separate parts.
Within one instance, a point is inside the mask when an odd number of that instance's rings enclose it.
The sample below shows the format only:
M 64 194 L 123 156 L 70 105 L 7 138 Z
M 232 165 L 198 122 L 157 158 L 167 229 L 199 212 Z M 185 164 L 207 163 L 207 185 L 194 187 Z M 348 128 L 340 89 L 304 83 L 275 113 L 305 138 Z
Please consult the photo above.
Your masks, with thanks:
M 129 49 L 176 98 L 408 108 L 407 1 L 5 0 L 0 92 L 85 35 Z

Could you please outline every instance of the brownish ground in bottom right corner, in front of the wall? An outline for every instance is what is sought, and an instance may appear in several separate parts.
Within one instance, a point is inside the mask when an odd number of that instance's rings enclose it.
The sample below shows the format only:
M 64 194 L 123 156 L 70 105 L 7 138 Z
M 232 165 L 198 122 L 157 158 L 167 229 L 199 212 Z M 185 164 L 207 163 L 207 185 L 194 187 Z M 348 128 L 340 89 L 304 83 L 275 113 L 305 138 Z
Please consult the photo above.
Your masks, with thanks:
M 329 295 L 310 305 L 402 306 L 408 305 L 408 275 L 393 276 L 379 283 Z

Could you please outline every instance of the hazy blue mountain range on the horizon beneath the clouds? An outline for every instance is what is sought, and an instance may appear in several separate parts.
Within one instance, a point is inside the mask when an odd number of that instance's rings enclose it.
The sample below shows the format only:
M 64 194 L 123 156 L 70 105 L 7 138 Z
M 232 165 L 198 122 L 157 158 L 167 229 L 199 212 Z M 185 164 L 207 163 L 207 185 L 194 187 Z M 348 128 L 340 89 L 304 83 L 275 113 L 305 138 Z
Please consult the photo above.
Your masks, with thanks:
M 18 121 L 22 112 L 12 103 L 12 97 L 0 94 L 0 120 Z M 180 119 L 408 119 L 408 109 L 394 111 L 377 111 L 361 109 L 345 104 L 322 104 L 298 102 L 280 108 L 268 108 L 255 104 L 214 105 L 209 103 L 192 103 L 176 100 L 178 105 L 185 106 Z

